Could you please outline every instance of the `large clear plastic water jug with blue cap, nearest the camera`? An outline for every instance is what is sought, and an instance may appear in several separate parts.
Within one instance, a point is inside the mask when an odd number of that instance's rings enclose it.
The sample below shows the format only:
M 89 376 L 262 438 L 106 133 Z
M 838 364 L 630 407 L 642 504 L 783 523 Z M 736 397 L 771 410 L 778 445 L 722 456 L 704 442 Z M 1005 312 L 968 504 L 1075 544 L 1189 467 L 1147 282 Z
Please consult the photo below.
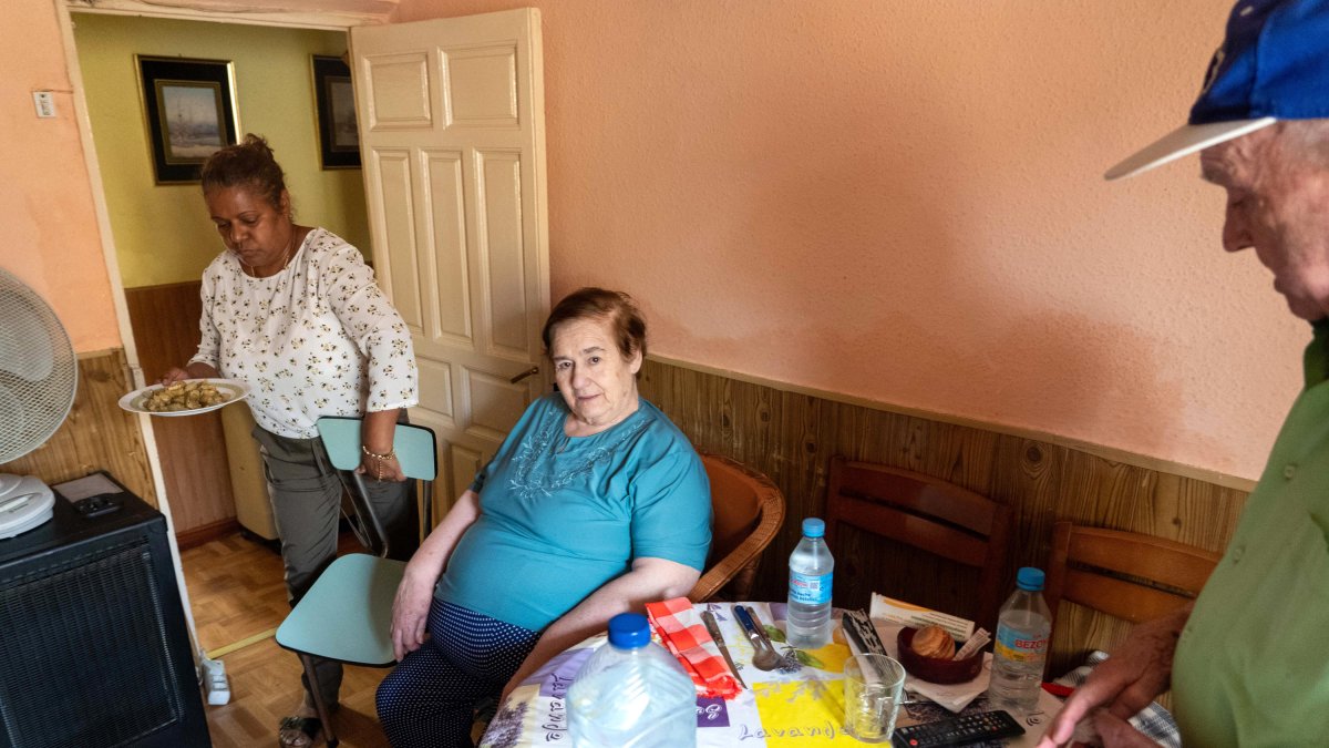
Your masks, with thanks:
M 651 643 L 646 616 L 609 619 L 609 644 L 567 689 L 567 727 L 573 748 L 696 745 L 696 687 L 674 655 Z

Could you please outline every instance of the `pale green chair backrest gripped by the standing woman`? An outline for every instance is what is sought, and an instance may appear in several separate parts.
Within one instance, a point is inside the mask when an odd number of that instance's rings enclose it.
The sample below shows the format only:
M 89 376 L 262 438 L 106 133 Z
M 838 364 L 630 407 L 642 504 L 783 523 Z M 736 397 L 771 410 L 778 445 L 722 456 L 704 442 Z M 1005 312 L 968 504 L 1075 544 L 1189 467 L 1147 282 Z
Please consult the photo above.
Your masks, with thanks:
M 367 499 L 364 478 L 355 471 L 360 466 L 360 422 L 359 417 L 324 415 L 316 427 L 323 449 L 328 453 L 332 467 L 344 471 L 343 483 L 355 508 L 352 528 L 360 543 L 379 556 L 387 556 L 388 536 L 383 522 L 373 512 L 373 504 Z M 415 423 L 397 423 L 392 433 L 392 451 L 407 478 L 424 483 L 421 527 L 428 535 L 433 528 L 433 479 L 439 475 L 439 450 L 433 430 Z

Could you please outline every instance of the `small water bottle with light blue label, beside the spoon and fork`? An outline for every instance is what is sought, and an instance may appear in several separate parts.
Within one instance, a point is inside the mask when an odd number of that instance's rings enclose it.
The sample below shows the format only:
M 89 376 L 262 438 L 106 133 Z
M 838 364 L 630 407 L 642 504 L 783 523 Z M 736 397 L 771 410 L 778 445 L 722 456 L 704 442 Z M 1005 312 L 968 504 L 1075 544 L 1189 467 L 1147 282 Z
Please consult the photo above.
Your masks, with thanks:
M 831 578 L 835 559 L 824 539 L 827 524 L 815 516 L 803 520 L 803 539 L 789 554 L 789 607 L 785 640 L 799 650 L 831 643 Z

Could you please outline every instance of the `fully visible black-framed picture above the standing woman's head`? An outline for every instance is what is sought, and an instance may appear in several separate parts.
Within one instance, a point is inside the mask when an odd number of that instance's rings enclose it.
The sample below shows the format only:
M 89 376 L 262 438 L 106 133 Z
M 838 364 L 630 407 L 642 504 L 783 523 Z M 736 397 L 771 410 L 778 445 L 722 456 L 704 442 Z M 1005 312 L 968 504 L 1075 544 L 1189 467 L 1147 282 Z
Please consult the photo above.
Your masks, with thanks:
M 226 60 L 136 55 L 157 184 L 197 182 L 203 160 L 235 142 L 235 69 Z

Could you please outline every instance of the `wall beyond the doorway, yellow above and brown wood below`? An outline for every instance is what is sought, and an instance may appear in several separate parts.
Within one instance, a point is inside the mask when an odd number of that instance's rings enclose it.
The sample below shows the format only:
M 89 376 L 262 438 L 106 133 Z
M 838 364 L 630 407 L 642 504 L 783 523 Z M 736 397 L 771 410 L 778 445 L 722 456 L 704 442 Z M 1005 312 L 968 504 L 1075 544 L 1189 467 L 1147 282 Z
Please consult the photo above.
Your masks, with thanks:
M 198 345 L 199 278 L 222 250 L 198 182 L 161 182 L 152 164 L 137 56 L 230 64 L 238 133 L 263 134 L 286 169 L 298 218 L 355 246 L 369 244 L 359 169 L 323 169 L 315 122 L 312 56 L 342 56 L 346 32 L 74 13 L 74 43 L 102 174 L 121 282 L 144 378 L 153 381 Z M 235 528 L 237 500 L 260 475 L 227 459 L 226 445 L 254 453 L 235 409 L 157 419 L 162 475 L 182 546 Z M 223 431 L 233 437 L 227 441 Z M 237 438 L 239 437 L 239 438 Z M 243 458 L 243 454 L 233 457 Z M 253 457 L 253 455 L 250 455 Z M 239 475 L 249 467 L 246 475 Z M 231 470 L 235 468 L 235 470 Z M 235 480 L 233 480 L 235 472 Z M 249 490 L 233 491 L 233 483 Z M 258 483 L 260 484 L 260 483 Z M 266 495 L 260 496 L 266 500 Z M 243 512 L 242 512 L 243 514 Z M 274 538 L 270 524 L 250 530 Z

